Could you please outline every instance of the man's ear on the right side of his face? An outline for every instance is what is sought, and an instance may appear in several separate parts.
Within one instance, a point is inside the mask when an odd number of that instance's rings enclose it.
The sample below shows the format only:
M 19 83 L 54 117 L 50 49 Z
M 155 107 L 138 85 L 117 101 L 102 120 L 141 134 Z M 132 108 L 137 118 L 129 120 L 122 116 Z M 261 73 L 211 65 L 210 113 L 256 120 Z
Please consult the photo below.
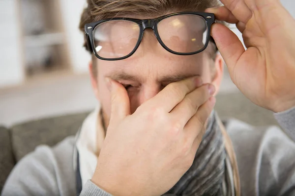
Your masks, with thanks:
M 214 65 L 215 65 L 215 76 L 214 76 L 214 78 L 212 80 L 212 84 L 216 88 L 216 92 L 215 92 L 214 96 L 216 96 L 218 94 L 219 89 L 220 89 L 220 85 L 221 85 L 221 82 L 222 82 L 222 78 L 223 78 L 223 64 L 224 64 L 223 58 L 218 53 L 216 55 L 215 62 L 214 62 Z

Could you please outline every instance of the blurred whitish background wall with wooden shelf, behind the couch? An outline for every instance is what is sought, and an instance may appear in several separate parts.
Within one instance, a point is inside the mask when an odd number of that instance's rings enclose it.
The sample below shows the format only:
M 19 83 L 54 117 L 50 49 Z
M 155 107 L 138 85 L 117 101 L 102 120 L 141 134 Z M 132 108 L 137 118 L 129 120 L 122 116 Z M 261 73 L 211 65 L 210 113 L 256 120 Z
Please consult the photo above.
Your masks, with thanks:
M 295 17 L 295 0 L 281 1 Z M 95 107 L 90 55 L 78 29 L 85 6 L 86 0 L 0 0 L 0 124 Z M 225 72 L 221 94 L 234 91 Z

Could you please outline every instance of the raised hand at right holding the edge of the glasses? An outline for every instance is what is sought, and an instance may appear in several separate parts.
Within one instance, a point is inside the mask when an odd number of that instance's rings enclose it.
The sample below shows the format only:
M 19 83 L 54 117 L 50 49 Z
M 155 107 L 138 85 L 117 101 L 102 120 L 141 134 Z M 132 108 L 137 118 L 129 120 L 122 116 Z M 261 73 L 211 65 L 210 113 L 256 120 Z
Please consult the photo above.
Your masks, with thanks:
M 214 24 L 211 36 L 237 88 L 274 112 L 295 106 L 295 20 L 280 0 L 221 0 L 209 8 L 221 21 L 236 24 L 242 46 L 227 27 Z

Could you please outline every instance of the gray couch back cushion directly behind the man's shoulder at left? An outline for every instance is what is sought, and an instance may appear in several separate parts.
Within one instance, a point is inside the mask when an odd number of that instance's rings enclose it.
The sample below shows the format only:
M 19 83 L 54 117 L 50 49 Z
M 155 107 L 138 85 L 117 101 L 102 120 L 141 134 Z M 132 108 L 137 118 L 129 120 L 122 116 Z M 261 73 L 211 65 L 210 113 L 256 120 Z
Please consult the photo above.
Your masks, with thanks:
M 41 119 L 11 128 L 12 147 L 16 161 L 39 145 L 54 146 L 70 135 L 75 135 L 89 112 Z

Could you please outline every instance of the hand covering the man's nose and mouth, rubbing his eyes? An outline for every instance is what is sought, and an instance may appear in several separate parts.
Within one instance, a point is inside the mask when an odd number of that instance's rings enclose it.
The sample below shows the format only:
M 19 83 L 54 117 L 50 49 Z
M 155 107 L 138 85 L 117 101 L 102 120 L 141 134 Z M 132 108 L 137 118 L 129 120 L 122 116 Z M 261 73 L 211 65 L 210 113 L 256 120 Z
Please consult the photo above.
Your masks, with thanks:
M 166 86 L 130 115 L 125 88 L 111 80 L 111 119 L 92 182 L 116 196 L 155 196 L 191 167 L 215 103 L 200 78 Z M 210 93 L 209 93 L 210 92 Z

